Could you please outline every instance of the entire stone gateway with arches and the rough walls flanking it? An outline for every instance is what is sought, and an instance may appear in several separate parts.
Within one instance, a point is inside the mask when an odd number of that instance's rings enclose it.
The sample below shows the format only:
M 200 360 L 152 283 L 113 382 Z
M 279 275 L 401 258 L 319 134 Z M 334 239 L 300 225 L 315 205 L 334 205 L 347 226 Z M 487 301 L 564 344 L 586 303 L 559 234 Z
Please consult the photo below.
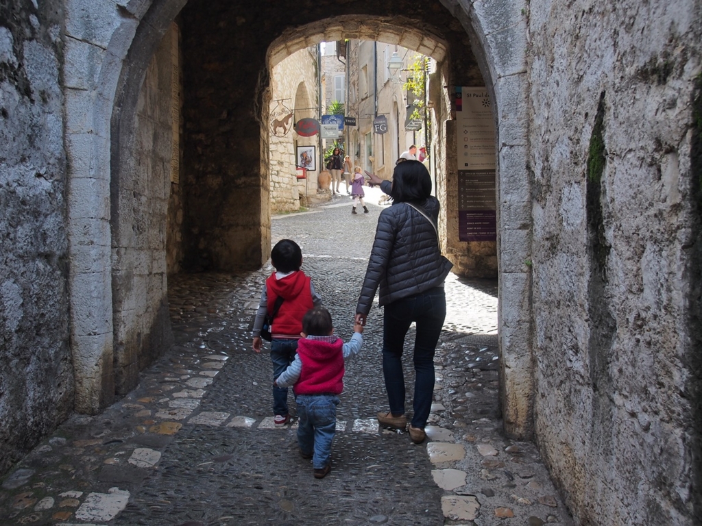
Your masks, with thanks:
M 437 63 L 456 252 L 451 88 L 494 100 L 505 430 L 578 522 L 700 522 L 699 2 L 298 4 L 0 5 L 0 469 L 138 382 L 168 274 L 265 262 L 271 68 L 359 39 Z

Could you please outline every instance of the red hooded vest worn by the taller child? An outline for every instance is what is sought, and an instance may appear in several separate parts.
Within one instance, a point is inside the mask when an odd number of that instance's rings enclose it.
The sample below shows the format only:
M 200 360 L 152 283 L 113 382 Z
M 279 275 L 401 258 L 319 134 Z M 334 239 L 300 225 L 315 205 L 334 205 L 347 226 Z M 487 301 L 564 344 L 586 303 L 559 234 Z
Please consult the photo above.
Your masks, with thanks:
M 303 330 L 303 316 L 312 309 L 310 278 L 301 270 L 278 279 L 275 273 L 265 281 L 267 309 L 275 308 L 275 300 L 283 298 L 278 313 L 273 319 L 271 335 L 275 339 L 299 339 Z

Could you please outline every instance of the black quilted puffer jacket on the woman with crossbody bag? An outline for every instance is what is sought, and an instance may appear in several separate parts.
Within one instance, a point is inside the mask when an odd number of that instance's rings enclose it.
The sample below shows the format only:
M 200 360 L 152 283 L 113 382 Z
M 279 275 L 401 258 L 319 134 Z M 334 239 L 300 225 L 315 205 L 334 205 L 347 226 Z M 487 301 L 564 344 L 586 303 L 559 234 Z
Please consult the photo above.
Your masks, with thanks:
M 380 187 L 388 194 L 390 182 L 383 181 Z M 437 221 L 437 198 L 428 198 L 419 208 Z M 407 203 L 394 203 L 378 217 L 376 239 L 356 312 L 367 315 L 371 311 L 378 287 L 380 306 L 387 305 L 442 285 L 451 267 L 453 264 L 441 255 L 430 222 Z

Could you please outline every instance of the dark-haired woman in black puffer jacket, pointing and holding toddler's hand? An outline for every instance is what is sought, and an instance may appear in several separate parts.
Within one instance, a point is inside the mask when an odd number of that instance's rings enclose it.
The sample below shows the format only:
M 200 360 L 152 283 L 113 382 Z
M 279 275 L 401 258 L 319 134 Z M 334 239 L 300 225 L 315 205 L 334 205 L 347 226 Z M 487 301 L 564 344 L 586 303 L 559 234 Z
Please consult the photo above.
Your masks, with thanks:
M 430 195 L 432 182 L 425 166 L 404 161 L 395 166 L 392 183 L 375 175 L 370 182 L 380 184 L 393 202 L 378 217 L 356 321 L 366 325 L 380 288 L 379 303 L 385 307 L 383 376 L 390 412 L 379 412 L 378 422 L 396 429 L 407 425 L 402 351 L 409 326 L 416 323 L 414 414 L 409 435 L 413 442 L 422 443 L 434 393 L 434 353 L 446 318 L 444 279 L 453 265 L 439 248 L 439 201 Z

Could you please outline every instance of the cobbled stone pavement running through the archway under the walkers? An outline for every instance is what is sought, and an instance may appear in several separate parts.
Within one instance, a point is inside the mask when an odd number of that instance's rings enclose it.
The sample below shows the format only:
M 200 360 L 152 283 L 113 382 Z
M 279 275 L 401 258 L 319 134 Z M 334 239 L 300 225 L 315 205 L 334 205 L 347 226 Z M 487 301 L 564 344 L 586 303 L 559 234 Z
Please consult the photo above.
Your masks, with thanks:
M 369 194 L 369 214 L 352 216 L 350 201 L 336 197 L 272 226 L 274 243 L 292 238 L 303 248 L 303 269 L 345 340 L 380 211 Z M 8 473 L 0 524 L 572 524 L 536 447 L 501 431 L 496 281 L 446 280 L 422 445 L 374 418 L 388 407 L 382 309 L 371 311 L 362 355 L 347 363 L 332 471 L 318 480 L 298 453 L 296 419 L 272 425 L 270 358 L 251 350 L 271 270 L 169 278 L 176 346 L 133 393 L 95 417 L 72 417 Z M 406 381 L 411 412 L 410 360 Z M 292 393 L 289 402 L 294 415 Z

